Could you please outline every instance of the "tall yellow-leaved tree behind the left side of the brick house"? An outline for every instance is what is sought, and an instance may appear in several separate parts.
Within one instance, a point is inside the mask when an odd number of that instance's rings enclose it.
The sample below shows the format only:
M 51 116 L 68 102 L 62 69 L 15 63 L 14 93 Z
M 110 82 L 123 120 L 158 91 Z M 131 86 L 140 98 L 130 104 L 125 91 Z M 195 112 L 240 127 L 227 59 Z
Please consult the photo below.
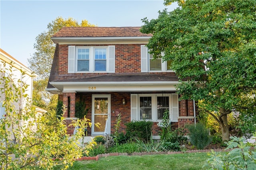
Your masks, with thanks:
M 55 44 L 50 38 L 64 26 L 87 27 L 95 25 L 90 24 L 87 20 L 82 20 L 81 24 L 79 24 L 73 18 L 63 19 L 62 17 L 58 17 L 48 24 L 46 31 L 36 37 L 36 43 L 34 43 L 36 52 L 28 59 L 29 68 L 38 75 L 38 78 L 34 82 L 34 92 L 36 93 L 34 93 L 33 103 L 39 107 L 46 105 L 43 108 L 47 110 L 51 109 L 48 108 L 48 104 L 51 105 L 51 101 L 55 101 L 56 104 L 56 100 L 54 100 L 56 96 L 54 97 L 54 95 L 44 91 L 50 76 L 55 51 Z

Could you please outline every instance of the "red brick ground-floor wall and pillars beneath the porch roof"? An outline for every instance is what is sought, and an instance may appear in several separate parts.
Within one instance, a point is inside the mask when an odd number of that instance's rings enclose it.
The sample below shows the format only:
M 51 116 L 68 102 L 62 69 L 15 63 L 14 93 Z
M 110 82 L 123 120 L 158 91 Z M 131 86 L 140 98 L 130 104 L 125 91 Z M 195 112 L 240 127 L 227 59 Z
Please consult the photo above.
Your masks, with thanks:
M 126 92 L 111 92 L 111 93 L 93 93 L 93 94 L 110 94 L 111 95 L 111 133 L 114 133 L 114 127 L 116 124 L 116 118 L 117 118 L 117 114 L 120 112 L 122 114 L 121 116 L 121 123 L 120 123 L 120 128 L 119 128 L 119 132 L 124 132 L 125 133 L 125 128 L 126 126 L 124 125 L 127 122 L 130 122 L 130 93 L 126 93 Z M 88 119 L 92 119 L 92 93 L 64 93 L 63 98 L 65 99 L 65 97 L 67 97 L 68 95 L 70 96 L 75 96 L 76 99 L 75 101 L 85 101 L 86 103 L 86 108 L 88 108 L 88 113 L 86 115 L 86 117 Z M 59 97 L 61 98 L 61 96 Z M 126 105 L 122 105 L 122 99 L 126 100 Z M 182 119 L 178 119 L 178 122 L 172 122 L 172 128 L 184 128 L 184 126 L 186 124 L 192 124 L 194 123 L 194 118 L 192 117 L 192 113 L 193 113 L 193 101 L 189 101 L 188 103 L 191 104 L 192 102 L 192 107 L 188 107 L 188 113 L 190 114 L 189 117 L 182 116 L 182 113 L 186 113 L 186 102 L 185 101 L 180 101 L 179 105 L 180 105 L 180 109 L 179 109 L 179 116 L 182 117 Z M 182 106 L 182 107 L 181 107 Z M 113 113 L 114 111 L 114 113 Z M 197 111 L 197 108 L 196 108 Z M 197 113 L 196 113 L 197 114 Z M 193 113 L 194 115 L 194 113 Z M 64 115 L 64 117 L 67 115 Z M 71 117 L 71 116 L 70 116 Z M 158 122 L 154 122 L 153 126 L 152 126 L 152 133 L 153 135 L 159 135 L 159 132 L 161 130 L 161 128 L 157 127 L 157 123 Z M 74 130 L 74 129 L 73 129 Z M 70 132 L 73 133 L 73 130 L 71 130 Z M 187 133 L 186 131 L 187 129 L 184 130 L 184 132 Z M 71 134 L 72 134 L 71 133 Z M 88 136 L 91 135 L 91 128 L 88 128 Z

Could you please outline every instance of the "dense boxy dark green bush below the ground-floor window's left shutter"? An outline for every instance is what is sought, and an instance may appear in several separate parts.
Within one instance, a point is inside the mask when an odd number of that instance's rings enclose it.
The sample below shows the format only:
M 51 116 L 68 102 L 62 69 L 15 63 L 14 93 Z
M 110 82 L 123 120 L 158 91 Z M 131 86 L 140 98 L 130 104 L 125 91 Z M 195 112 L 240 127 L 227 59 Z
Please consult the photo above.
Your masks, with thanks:
M 151 121 L 132 121 L 126 123 L 126 136 L 128 139 L 132 139 L 134 137 L 139 140 L 149 141 L 150 136 L 152 134 L 152 125 Z

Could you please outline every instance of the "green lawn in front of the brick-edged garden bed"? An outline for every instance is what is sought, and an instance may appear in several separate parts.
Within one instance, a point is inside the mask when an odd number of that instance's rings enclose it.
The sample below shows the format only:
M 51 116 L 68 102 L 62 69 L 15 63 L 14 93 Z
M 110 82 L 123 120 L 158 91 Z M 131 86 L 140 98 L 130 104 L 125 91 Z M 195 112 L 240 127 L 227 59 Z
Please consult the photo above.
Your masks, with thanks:
M 98 161 L 74 162 L 68 170 L 201 170 L 206 152 L 144 156 L 108 156 Z M 57 170 L 57 168 L 56 168 Z

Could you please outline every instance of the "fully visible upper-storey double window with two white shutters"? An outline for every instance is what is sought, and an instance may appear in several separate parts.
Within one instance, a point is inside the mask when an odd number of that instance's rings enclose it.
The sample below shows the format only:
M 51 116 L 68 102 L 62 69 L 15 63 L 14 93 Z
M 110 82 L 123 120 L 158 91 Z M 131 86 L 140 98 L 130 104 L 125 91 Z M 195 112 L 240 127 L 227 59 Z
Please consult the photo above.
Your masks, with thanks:
M 68 46 L 68 73 L 115 72 L 115 46 Z

